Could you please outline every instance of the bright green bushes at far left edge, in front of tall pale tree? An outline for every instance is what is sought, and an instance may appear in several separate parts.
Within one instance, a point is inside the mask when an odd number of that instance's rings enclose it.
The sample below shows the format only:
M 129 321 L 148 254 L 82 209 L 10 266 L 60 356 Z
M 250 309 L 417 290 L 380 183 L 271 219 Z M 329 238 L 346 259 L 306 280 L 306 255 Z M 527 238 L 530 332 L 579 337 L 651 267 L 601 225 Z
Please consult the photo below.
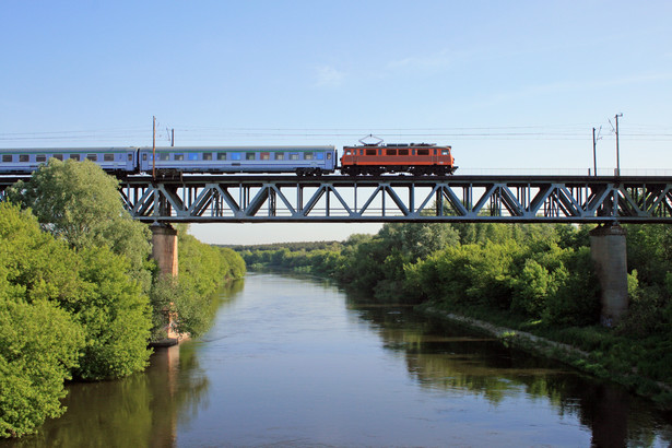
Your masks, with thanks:
M 0 437 L 33 433 L 62 414 L 63 380 L 84 344 L 72 316 L 39 296 L 58 295 L 67 248 L 37 221 L 0 203 Z

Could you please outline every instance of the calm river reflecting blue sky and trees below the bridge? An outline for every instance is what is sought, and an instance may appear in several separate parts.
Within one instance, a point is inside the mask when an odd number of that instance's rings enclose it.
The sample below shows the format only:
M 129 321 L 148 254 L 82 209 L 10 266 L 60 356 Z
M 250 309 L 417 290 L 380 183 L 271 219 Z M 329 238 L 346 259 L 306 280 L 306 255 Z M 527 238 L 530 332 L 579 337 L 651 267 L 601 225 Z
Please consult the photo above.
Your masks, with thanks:
M 329 282 L 248 273 L 201 339 L 144 374 L 72 384 L 0 446 L 669 446 L 672 414 L 617 386 Z

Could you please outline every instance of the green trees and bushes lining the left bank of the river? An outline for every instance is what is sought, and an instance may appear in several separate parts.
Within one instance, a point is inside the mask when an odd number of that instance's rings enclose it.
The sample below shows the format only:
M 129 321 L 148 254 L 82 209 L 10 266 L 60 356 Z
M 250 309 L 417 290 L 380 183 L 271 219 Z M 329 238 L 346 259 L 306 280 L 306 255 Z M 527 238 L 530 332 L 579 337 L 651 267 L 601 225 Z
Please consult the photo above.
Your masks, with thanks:
M 61 415 L 67 380 L 142 372 L 168 313 L 178 331 L 201 334 L 213 293 L 245 274 L 233 250 L 180 226 L 178 279 L 160 275 L 150 231 L 117 187 L 92 162 L 52 158 L 0 203 L 0 438 Z

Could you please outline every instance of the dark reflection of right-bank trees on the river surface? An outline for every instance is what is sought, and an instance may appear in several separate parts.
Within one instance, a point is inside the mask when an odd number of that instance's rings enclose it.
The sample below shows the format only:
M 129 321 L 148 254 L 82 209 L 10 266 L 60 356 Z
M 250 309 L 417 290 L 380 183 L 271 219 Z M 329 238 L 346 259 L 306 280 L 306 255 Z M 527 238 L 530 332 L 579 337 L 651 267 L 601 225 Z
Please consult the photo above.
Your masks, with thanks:
M 617 385 L 408 306 L 361 300 L 349 298 L 349 307 L 370 323 L 387 350 L 405 357 L 422 388 L 468 390 L 494 406 L 522 389 L 532 400 L 549 400 L 559 416 L 577 416 L 591 429 L 596 447 L 672 445 L 672 412 L 659 412 Z

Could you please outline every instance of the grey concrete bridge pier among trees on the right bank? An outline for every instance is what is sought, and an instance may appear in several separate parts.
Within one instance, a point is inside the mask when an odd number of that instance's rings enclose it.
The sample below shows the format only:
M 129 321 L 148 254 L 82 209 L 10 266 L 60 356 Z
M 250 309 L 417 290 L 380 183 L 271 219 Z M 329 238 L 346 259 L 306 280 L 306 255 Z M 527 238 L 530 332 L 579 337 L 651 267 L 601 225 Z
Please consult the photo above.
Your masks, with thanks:
M 627 252 L 625 229 L 604 225 L 590 232 L 590 256 L 600 281 L 603 326 L 616 325 L 627 310 Z

